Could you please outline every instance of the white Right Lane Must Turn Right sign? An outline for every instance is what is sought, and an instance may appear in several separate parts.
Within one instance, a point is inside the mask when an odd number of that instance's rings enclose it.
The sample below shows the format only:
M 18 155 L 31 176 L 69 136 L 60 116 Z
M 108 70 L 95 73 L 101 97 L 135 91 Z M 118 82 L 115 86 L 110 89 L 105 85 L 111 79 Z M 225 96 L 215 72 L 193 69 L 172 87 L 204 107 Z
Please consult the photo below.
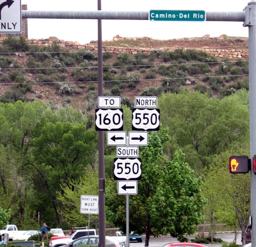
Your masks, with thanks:
M 81 195 L 80 213 L 98 214 L 99 195 Z

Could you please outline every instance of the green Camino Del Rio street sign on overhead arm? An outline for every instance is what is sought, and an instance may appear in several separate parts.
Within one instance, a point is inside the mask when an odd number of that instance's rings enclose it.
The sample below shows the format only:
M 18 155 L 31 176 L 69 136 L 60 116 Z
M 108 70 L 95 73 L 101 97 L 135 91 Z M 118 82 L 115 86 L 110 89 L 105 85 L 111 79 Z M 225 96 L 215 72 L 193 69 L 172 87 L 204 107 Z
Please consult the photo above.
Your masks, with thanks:
M 205 21 L 204 10 L 150 10 L 152 21 Z

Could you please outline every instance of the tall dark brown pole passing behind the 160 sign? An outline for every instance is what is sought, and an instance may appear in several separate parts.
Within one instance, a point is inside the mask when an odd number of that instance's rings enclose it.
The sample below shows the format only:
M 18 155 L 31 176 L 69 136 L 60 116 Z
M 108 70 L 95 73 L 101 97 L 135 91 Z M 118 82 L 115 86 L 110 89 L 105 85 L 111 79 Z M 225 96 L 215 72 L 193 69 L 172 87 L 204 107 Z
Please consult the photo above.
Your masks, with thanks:
M 98 0 L 101 10 L 101 0 Z M 102 20 L 98 20 L 98 96 L 103 96 Z M 99 131 L 99 247 L 105 247 L 104 131 Z

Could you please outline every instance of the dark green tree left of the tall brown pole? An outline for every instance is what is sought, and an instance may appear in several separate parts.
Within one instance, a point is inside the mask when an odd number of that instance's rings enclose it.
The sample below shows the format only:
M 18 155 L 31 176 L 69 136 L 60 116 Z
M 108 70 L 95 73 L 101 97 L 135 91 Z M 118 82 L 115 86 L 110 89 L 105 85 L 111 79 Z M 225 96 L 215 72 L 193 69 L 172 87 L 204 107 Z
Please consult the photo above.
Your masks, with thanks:
M 41 135 L 33 141 L 34 177 L 38 193 L 49 201 L 58 224 L 62 224 L 63 205 L 56 200 L 57 192 L 64 195 L 61 185 L 78 180 L 94 161 L 97 145 L 95 130 L 85 131 L 83 124 L 46 123 Z M 39 182 L 40 181 L 40 182 Z M 40 200 L 44 203 L 44 200 Z M 59 204 L 59 210 L 57 206 Z M 45 205 L 41 205 L 44 211 Z

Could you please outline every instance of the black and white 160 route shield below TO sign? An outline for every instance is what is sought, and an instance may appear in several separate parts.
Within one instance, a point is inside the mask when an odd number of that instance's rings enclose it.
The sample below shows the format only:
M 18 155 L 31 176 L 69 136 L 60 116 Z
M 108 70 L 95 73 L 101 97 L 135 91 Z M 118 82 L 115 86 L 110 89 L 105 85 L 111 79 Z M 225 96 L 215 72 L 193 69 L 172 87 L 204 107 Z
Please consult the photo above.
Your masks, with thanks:
M 95 109 L 96 130 L 122 130 L 123 109 Z

